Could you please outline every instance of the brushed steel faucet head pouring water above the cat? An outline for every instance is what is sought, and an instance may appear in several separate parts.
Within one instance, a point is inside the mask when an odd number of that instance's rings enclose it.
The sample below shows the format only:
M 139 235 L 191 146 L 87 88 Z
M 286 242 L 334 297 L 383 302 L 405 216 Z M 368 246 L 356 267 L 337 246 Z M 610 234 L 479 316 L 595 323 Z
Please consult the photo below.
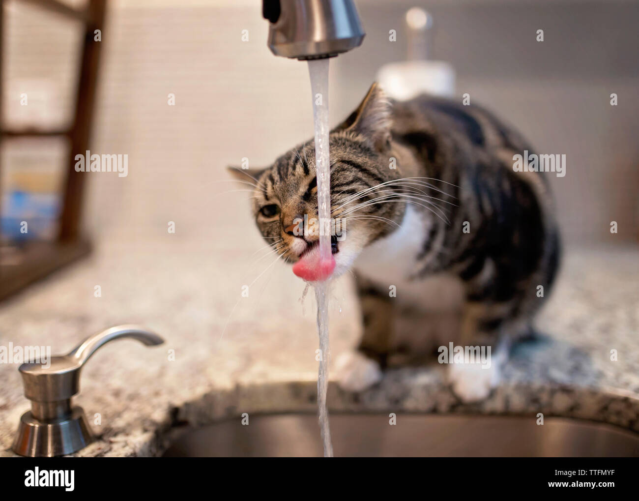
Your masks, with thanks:
M 263 0 L 268 48 L 292 59 L 332 58 L 364 40 L 353 0 Z

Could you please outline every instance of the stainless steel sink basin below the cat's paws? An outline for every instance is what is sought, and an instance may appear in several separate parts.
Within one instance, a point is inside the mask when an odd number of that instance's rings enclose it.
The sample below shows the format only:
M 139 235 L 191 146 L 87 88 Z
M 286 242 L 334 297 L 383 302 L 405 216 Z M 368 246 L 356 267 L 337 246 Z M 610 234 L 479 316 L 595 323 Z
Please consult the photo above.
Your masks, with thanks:
M 575 419 L 332 414 L 335 456 L 639 456 L 639 434 Z M 164 457 L 322 456 L 317 417 L 254 415 L 189 429 Z

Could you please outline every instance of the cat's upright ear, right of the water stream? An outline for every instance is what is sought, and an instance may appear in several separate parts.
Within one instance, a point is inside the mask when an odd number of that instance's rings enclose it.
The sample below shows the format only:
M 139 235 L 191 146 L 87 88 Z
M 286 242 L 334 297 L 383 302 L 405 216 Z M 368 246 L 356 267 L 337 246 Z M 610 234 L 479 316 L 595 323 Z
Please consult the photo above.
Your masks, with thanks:
M 346 120 L 334 130 L 351 130 L 367 137 L 378 151 L 390 146 L 390 102 L 377 82 L 373 82 L 366 97 Z

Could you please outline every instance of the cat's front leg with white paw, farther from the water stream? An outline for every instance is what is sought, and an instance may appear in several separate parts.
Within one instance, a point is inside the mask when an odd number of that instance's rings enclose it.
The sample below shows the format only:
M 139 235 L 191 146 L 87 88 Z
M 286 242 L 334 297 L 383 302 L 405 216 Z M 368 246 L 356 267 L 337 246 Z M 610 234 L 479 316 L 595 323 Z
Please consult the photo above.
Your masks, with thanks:
M 500 381 L 501 367 L 509 351 L 507 304 L 467 302 L 461 326 L 463 350 L 453 353 L 448 367 L 451 389 L 462 401 L 489 396 Z

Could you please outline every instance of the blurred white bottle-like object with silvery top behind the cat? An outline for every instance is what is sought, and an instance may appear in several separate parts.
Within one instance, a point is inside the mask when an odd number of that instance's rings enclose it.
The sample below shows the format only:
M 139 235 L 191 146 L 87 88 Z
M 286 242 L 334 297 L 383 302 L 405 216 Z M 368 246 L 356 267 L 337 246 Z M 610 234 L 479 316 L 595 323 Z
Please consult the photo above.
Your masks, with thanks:
M 421 93 L 451 97 L 455 93 L 455 70 L 445 61 L 429 59 L 433 17 L 420 7 L 406 12 L 408 54 L 406 61 L 381 66 L 376 80 L 390 97 L 413 98 Z

